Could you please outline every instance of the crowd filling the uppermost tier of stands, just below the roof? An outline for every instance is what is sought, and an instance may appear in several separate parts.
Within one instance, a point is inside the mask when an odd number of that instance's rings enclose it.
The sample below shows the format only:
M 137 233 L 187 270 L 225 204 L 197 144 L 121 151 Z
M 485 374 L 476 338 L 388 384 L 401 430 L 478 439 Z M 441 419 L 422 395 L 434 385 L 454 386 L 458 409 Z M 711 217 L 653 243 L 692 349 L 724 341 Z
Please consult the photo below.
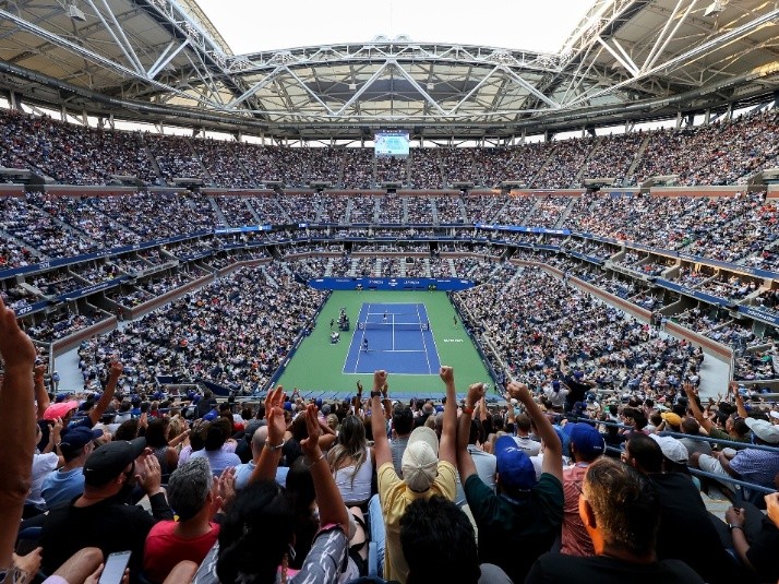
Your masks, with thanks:
M 420 189 L 455 182 L 494 188 L 512 181 L 558 189 L 578 188 L 583 178 L 613 178 L 628 186 L 670 175 L 683 186 L 733 184 L 770 168 L 779 157 L 776 109 L 678 130 L 508 147 L 419 147 L 411 148 L 408 158 L 374 157 L 369 147 L 283 147 L 91 129 L 8 110 L 0 116 L 1 165 L 31 168 L 70 184 L 106 184 L 113 176 L 136 176 L 147 184 L 196 178 L 233 189 L 268 181 L 347 189 L 385 182 Z

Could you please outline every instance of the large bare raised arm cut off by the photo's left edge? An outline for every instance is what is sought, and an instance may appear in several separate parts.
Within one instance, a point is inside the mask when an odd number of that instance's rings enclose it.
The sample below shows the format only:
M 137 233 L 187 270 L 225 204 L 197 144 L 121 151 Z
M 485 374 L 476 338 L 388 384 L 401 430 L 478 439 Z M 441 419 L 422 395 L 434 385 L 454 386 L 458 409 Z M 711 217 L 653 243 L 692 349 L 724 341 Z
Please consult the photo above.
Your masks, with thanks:
M 11 568 L 19 523 L 27 497 L 35 451 L 33 366 L 35 345 L 0 297 L 0 356 L 5 377 L 0 390 L 0 570 Z

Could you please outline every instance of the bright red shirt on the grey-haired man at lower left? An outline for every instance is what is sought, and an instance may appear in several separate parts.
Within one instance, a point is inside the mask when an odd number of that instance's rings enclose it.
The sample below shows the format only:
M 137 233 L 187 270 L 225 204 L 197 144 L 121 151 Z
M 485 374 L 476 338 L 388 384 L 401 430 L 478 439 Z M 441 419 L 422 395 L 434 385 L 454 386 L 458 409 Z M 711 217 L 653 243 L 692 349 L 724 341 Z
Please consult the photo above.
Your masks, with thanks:
M 219 536 L 216 523 L 211 524 L 208 533 L 194 539 L 184 539 L 176 535 L 175 529 L 175 521 L 160 521 L 146 536 L 143 571 L 149 582 L 163 582 L 180 561 L 201 563 Z

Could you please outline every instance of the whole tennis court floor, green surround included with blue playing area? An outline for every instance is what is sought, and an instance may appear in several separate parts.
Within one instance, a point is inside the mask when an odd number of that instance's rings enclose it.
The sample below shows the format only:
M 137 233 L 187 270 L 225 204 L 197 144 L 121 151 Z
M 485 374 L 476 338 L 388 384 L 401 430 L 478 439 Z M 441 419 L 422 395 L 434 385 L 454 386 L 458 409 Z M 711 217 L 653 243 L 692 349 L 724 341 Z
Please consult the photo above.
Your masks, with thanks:
M 414 310 L 409 309 L 409 305 L 415 307 Z M 419 315 L 415 312 L 417 305 Z M 393 350 L 393 333 L 371 326 L 383 324 L 384 307 L 388 313 L 395 306 L 402 307 L 394 310 L 395 312 L 411 311 L 414 318 L 409 315 L 406 320 L 405 315 L 403 319 L 396 315 Z M 329 323 L 337 321 L 341 310 L 349 317 L 351 327 L 349 331 L 340 331 L 340 339 L 334 344 L 331 342 L 331 335 L 337 326 L 331 326 Z M 367 323 L 369 312 L 371 326 L 361 330 L 359 323 Z M 458 388 L 467 388 L 476 381 L 490 381 L 474 344 L 463 326 L 454 324 L 454 308 L 442 291 L 334 291 L 316 319 L 311 334 L 304 337 L 277 382 L 288 391 L 297 388 L 308 397 L 344 397 L 353 395 L 358 380 L 369 390 L 373 371 L 386 369 L 391 372 L 392 395 L 400 400 L 443 395 L 439 363 L 454 366 Z M 426 322 L 429 323 L 428 331 L 422 331 L 422 324 Z M 406 327 L 399 326 L 404 323 L 414 325 L 416 330 L 399 330 Z M 359 353 L 363 331 L 369 342 L 368 355 L 356 355 L 350 360 L 352 349 Z M 384 350 L 377 350 L 380 348 Z M 410 353 L 402 353 L 402 349 Z M 431 359 L 430 367 L 428 359 Z M 415 365 L 407 366 L 406 360 Z M 351 368 L 345 363 L 350 363 Z

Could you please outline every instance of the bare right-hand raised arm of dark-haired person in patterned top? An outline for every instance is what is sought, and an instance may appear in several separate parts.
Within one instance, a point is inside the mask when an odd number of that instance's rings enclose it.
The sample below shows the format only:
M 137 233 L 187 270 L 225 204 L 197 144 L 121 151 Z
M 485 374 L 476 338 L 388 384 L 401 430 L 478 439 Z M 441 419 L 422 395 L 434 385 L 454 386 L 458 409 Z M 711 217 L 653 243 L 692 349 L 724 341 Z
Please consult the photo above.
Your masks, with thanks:
M 332 523 L 340 525 L 344 532 L 349 531 L 349 516 L 340 497 L 340 491 L 335 484 L 335 479 L 329 472 L 329 465 L 320 448 L 320 428 L 316 417 L 316 406 L 309 404 L 305 409 L 305 427 L 309 437 L 300 442 L 300 448 L 305 457 L 305 465 L 311 470 L 311 478 L 314 481 L 316 491 L 316 506 L 320 511 L 320 525 L 325 526 Z

